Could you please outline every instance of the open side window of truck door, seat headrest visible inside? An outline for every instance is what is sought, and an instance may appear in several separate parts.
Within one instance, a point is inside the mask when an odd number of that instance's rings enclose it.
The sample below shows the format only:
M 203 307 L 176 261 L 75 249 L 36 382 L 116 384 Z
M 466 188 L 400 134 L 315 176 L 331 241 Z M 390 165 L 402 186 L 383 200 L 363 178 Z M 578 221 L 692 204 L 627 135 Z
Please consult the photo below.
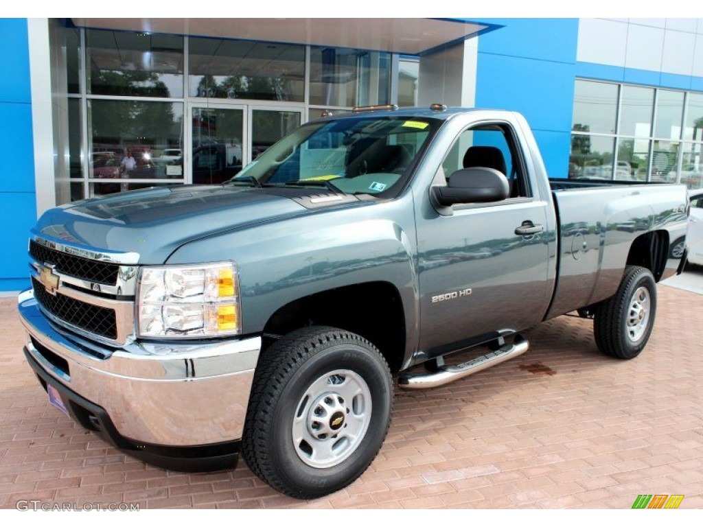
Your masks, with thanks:
M 454 171 L 489 167 L 505 174 L 510 197 L 531 197 L 515 136 L 507 124 L 484 124 L 463 131 L 442 162 L 447 180 Z

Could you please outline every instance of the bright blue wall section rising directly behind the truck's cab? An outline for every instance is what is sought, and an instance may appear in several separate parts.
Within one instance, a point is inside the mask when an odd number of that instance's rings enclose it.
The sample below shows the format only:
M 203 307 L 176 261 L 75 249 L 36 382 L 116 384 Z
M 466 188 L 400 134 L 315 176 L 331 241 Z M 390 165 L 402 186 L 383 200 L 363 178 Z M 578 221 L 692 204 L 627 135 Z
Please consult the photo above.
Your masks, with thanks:
M 567 177 L 576 77 L 576 18 L 482 18 L 502 25 L 479 37 L 477 108 L 521 112 L 548 174 Z

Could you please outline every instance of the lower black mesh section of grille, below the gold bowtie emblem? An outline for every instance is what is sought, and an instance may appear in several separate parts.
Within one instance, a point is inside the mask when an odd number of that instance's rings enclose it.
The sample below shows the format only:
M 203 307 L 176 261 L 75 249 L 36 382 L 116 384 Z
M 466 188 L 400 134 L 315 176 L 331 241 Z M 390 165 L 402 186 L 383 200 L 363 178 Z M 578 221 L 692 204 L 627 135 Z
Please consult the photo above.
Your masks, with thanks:
M 34 287 L 34 298 L 56 318 L 89 333 L 117 339 L 117 318 L 114 309 L 93 306 L 93 304 L 67 297 L 65 294 L 49 294 L 44 285 L 34 277 L 32 277 L 32 287 Z

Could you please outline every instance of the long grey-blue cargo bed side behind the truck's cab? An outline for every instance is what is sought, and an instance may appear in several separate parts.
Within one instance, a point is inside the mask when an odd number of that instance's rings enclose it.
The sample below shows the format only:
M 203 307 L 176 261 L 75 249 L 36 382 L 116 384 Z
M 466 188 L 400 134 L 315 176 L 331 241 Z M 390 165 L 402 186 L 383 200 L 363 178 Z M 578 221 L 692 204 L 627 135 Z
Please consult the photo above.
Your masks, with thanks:
M 681 199 L 685 194 L 680 185 L 585 179 L 550 179 L 549 183 L 560 249 L 557 285 L 546 318 L 612 296 L 630 263 L 628 252 L 633 244 L 670 247 L 685 235 L 687 219 Z M 669 254 L 669 250 L 657 253 Z M 676 266 L 666 267 L 664 259 L 653 264 L 657 281 L 676 273 Z

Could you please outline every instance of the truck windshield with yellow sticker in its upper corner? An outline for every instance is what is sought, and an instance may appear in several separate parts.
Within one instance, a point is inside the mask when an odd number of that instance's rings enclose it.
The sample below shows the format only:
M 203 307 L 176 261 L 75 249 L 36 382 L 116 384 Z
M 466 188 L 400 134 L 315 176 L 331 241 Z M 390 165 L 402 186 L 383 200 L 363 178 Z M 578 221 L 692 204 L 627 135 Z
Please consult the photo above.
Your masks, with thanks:
M 438 122 L 349 117 L 301 126 L 230 183 L 322 186 L 349 194 L 395 194 Z

